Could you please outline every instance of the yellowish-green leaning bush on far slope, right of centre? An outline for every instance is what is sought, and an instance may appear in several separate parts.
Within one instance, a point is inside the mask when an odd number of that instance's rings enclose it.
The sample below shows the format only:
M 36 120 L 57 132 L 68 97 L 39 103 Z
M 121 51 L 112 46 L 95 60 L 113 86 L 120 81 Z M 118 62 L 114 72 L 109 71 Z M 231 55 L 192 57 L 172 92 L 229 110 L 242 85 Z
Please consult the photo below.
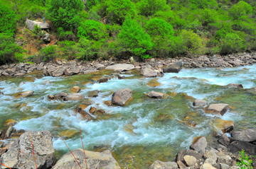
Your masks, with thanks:
M 202 54 L 203 52 L 203 40 L 199 35 L 193 33 L 192 30 L 181 30 L 181 40 L 183 40 L 183 45 L 186 46 L 189 52 L 193 54 Z

